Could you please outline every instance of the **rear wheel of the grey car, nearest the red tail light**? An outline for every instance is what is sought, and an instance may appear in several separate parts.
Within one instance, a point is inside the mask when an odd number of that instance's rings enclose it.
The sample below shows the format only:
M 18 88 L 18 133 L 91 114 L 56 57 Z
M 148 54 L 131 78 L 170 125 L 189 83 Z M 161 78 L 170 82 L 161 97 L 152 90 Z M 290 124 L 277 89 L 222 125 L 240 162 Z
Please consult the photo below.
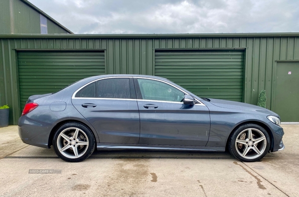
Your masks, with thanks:
M 94 152 L 96 143 L 88 127 L 78 122 L 68 122 L 57 129 L 53 147 L 57 156 L 64 161 L 81 162 Z

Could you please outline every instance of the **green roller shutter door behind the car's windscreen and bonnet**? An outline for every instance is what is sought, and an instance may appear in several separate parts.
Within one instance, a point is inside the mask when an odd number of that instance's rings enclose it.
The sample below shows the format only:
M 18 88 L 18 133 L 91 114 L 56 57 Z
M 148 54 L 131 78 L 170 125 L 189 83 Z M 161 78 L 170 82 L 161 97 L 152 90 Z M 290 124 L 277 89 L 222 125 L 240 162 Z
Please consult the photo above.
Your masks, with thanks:
M 243 50 L 156 51 L 154 75 L 199 97 L 243 100 Z

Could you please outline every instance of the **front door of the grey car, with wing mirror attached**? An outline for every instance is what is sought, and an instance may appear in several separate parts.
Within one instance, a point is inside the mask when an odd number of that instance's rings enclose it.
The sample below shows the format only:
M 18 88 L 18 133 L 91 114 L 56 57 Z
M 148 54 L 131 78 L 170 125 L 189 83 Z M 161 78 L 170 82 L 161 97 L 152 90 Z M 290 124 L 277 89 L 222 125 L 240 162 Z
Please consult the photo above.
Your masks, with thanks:
M 184 93 L 162 81 L 134 79 L 140 112 L 140 144 L 205 146 L 210 131 L 204 104 L 183 104 Z

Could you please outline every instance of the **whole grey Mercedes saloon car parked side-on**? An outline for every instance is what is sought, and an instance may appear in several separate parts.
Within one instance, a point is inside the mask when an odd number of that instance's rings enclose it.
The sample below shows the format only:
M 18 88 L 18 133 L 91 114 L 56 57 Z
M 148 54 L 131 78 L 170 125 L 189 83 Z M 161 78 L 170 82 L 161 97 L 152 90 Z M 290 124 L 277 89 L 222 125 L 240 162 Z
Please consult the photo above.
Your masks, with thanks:
M 54 148 L 67 162 L 94 150 L 225 151 L 245 162 L 280 151 L 284 130 L 268 109 L 199 98 L 171 81 L 145 75 L 101 75 L 28 98 L 21 140 Z

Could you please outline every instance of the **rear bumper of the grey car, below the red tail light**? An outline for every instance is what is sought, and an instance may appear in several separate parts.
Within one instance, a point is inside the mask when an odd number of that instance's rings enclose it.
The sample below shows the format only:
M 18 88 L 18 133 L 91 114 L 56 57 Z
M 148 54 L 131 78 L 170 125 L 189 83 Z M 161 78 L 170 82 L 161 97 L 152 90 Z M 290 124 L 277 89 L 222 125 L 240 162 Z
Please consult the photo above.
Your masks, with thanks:
M 18 134 L 29 145 L 48 148 L 48 140 L 53 124 L 40 122 L 23 115 L 18 121 Z

